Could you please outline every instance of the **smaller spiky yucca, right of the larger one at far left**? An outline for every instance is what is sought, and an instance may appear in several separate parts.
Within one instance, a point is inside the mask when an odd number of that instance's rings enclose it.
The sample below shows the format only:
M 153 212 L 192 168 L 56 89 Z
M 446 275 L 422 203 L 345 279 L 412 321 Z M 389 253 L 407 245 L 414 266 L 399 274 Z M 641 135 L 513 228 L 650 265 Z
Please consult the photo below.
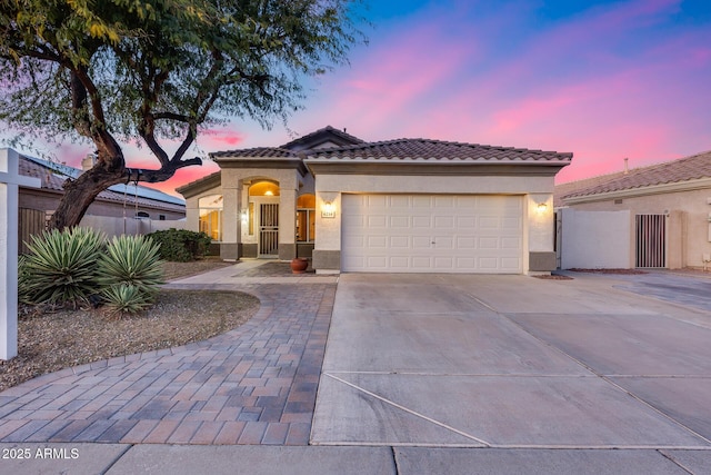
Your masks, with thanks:
M 99 259 L 98 281 L 103 288 L 127 284 L 153 297 L 163 284 L 159 246 L 144 236 L 114 237 Z

